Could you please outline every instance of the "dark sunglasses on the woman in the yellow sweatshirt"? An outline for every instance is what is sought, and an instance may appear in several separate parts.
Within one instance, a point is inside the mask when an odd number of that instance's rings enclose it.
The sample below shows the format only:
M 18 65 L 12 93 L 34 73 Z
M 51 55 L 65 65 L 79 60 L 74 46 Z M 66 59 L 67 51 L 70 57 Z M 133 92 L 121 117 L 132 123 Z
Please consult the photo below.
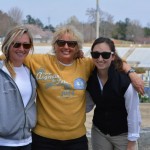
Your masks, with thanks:
M 67 43 L 68 47 L 71 47 L 71 48 L 74 48 L 77 45 L 77 41 L 57 40 L 56 43 L 59 47 L 65 46 L 66 43 Z

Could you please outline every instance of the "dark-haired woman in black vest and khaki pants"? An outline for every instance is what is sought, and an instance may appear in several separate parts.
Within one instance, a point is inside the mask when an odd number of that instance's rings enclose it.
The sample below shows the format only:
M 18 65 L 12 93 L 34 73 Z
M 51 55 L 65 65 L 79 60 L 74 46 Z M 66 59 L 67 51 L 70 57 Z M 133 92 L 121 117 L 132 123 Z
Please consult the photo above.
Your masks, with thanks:
M 138 93 L 111 39 L 96 39 L 91 56 L 95 69 L 87 90 L 95 104 L 93 150 L 134 150 L 141 124 Z

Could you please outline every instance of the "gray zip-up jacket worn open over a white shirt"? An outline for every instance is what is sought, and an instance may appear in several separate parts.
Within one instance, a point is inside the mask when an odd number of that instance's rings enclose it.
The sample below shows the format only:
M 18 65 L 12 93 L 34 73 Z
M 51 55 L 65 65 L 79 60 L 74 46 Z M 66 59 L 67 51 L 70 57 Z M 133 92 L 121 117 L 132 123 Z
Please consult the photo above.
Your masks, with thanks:
M 24 108 L 20 91 L 13 79 L 1 68 L 0 62 L 0 137 L 26 139 L 36 124 L 36 82 L 31 75 L 32 95 Z M 28 87 L 27 87 L 28 88 Z

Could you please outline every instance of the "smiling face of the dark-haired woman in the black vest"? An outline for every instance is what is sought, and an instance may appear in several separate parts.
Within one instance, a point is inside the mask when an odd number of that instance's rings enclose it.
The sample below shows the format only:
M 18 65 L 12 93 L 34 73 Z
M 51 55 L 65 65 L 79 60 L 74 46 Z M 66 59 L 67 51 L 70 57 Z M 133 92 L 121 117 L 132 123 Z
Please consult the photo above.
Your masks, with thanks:
M 94 46 L 93 52 L 99 52 L 99 53 L 109 52 L 109 53 L 111 53 L 111 49 L 107 43 L 99 43 Z M 99 58 L 96 58 L 96 59 L 93 58 L 93 62 L 98 70 L 108 70 L 111 62 L 114 60 L 114 55 L 110 54 L 110 57 L 108 59 L 103 58 L 102 55 L 100 55 Z

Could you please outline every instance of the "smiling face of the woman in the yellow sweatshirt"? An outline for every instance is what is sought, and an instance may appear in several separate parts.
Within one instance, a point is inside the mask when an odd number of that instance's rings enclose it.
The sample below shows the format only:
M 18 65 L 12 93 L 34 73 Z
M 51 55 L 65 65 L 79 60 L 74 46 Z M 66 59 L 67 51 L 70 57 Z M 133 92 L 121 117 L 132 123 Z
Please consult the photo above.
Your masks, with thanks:
M 59 37 L 58 40 L 61 40 L 63 42 L 66 41 L 66 42 L 64 45 L 60 45 L 57 42 L 55 43 L 54 49 L 55 49 L 57 59 L 64 64 L 72 63 L 74 61 L 75 55 L 78 51 L 78 48 L 77 48 L 78 45 L 77 45 L 76 41 L 73 40 L 72 35 L 70 35 L 69 33 L 63 34 L 61 37 Z M 76 44 L 74 43 L 74 46 L 71 46 L 70 43 L 72 43 L 72 42 L 67 44 L 67 41 L 73 41 Z

